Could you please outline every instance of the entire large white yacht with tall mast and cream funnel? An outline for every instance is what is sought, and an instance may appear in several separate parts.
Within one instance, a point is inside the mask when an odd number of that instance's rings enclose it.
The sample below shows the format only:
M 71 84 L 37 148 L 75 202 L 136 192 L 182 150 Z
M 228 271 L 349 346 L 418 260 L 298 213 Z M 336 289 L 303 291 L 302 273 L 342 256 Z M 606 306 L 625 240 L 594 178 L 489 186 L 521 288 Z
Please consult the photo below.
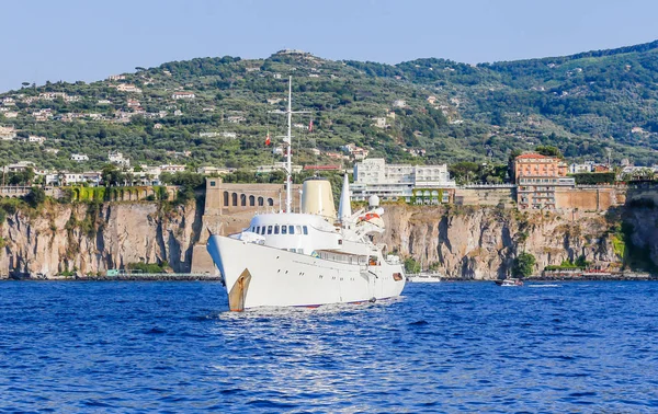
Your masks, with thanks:
M 291 117 L 286 143 L 285 210 L 256 215 L 247 229 L 211 234 L 207 250 L 219 268 L 231 311 L 256 307 L 316 307 L 397 297 L 405 287 L 398 256 L 373 237 L 384 232 L 378 197 L 352 214 L 345 174 L 338 216 L 328 180 L 304 182 L 302 211 L 292 212 Z

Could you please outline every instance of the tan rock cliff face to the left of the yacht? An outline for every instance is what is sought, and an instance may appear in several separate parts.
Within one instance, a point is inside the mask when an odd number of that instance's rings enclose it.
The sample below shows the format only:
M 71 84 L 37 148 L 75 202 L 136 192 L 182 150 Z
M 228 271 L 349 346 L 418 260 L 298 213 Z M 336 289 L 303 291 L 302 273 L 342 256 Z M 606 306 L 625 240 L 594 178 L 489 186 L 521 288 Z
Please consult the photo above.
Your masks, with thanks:
M 175 272 L 190 272 L 201 230 L 195 208 L 162 211 L 148 203 L 47 205 L 31 215 L 16 211 L 2 226 L 2 275 L 87 275 L 163 261 Z

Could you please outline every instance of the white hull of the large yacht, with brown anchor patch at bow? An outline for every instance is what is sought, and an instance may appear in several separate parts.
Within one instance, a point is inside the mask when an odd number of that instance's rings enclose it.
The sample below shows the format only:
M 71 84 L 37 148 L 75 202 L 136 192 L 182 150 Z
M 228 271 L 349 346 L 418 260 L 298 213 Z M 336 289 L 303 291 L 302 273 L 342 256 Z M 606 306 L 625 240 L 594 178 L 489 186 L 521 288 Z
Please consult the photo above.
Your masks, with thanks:
M 207 250 L 234 311 L 386 299 L 399 296 L 405 287 L 402 266 L 385 261 L 334 262 L 215 234 Z

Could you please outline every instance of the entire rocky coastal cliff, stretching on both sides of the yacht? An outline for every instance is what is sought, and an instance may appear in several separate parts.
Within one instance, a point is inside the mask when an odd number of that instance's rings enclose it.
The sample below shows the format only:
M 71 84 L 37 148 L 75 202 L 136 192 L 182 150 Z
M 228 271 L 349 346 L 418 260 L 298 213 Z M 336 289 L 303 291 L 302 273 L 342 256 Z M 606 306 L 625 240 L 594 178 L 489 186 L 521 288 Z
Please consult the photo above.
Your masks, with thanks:
M 103 274 L 129 263 L 167 261 L 191 271 L 202 209 L 157 203 L 46 204 L 7 216 L 0 235 L 0 276 Z M 527 214 L 469 206 L 386 206 L 389 252 L 411 256 L 449 277 L 509 276 L 522 252 L 546 265 L 579 257 L 601 267 L 655 271 L 658 208 L 635 203 L 606 214 Z M 247 226 L 245 223 L 245 226 Z M 197 250 L 198 252 L 200 250 Z M 201 249 L 200 254 L 206 254 Z

